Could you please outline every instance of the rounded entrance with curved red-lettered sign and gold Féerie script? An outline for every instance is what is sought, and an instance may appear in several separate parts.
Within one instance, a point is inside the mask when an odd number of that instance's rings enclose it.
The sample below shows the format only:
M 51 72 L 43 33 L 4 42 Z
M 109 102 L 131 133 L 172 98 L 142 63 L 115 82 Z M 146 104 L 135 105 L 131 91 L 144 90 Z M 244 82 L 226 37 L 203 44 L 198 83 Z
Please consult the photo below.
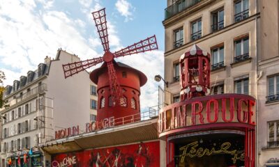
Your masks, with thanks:
M 166 106 L 159 138 L 167 166 L 255 166 L 255 99 L 223 94 Z

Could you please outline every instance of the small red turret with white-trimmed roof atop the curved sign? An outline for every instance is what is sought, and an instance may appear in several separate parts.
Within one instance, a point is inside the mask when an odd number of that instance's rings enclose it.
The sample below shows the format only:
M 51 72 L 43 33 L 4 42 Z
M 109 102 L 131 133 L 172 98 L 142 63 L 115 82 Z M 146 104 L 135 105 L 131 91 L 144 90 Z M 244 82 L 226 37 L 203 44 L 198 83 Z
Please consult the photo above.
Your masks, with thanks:
M 179 59 L 181 72 L 181 101 L 210 93 L 210 54 L 197 45 Z

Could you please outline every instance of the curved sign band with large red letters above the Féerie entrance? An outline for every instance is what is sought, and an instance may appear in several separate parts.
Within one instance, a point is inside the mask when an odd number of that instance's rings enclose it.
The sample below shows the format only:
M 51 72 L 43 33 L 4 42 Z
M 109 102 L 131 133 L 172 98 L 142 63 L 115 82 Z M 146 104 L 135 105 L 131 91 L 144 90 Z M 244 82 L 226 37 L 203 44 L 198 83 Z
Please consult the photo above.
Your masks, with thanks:
M 181 127 L 216 122 L 240 122 L 255 125 L 255 99 L 249 95 L 223 94 L 193 98 L 160 110 L 159 136 Z M 160 135 L 161 134 L 161 135 Z

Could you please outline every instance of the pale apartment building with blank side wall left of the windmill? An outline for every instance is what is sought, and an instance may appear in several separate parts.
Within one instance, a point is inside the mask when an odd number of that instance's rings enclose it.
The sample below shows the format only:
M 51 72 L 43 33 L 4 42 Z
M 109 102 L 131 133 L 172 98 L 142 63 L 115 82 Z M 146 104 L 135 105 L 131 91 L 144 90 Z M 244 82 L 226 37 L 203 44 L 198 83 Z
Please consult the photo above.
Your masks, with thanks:
M 46 57 L 36 70 L 6 86 L 0 110 L 2 122 L 1 166 L 45 166 L 39 143 L 52 141 L 54 132 L 91 120 L 93 83 L 86 71 L 64 78 L 63 64 L 80 61 L 59 49 L 56 58 Z M 89 108 L 90 106 L 90 108 Z M 95 113 L 96 114 L 96 113 Z

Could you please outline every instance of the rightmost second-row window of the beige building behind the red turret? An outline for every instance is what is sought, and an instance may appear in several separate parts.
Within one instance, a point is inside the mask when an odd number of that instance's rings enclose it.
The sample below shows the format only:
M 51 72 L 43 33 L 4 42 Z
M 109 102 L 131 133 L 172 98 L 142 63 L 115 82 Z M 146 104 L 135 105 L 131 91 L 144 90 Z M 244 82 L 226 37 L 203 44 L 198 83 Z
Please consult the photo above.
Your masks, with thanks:
M 249 37 L 234 41 L 234 63 L 245 61 L 249 58 Z

